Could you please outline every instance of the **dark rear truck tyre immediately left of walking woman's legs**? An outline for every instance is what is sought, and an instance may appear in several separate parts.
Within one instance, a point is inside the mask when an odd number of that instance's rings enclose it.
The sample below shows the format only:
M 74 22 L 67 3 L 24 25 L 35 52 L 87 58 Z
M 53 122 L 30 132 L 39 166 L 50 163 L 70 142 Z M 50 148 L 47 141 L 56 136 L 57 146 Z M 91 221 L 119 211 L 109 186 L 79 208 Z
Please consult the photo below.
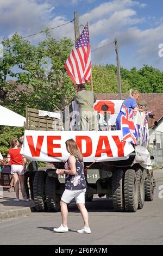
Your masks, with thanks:
M 56 194 L 57 178 L 47 176 L 46 179 L 46 203 L 48 211 L 60 210 L 60 197 Z

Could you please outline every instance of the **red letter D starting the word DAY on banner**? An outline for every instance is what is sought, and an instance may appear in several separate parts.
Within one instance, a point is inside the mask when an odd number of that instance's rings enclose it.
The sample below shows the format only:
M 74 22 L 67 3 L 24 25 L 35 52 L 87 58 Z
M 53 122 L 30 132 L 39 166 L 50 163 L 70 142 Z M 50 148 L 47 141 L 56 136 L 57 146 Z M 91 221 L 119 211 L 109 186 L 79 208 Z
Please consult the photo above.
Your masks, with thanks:
M 82 152 L 82 140 L 86 142 L 86 151 L 85 153 Z M 76 136 L 76 143 L 83 155 L 83 157 L 91 156 L 92 154 L 92 139 L 88 136 Z

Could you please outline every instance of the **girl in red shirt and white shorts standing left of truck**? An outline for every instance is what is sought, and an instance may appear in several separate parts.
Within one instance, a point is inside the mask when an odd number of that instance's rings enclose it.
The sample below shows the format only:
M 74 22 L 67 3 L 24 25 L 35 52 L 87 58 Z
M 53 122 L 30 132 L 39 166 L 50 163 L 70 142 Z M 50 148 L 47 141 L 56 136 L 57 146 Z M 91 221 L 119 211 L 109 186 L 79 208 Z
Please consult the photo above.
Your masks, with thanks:
M 18 196 L 18 181 L 20 182 L 21 192 L 23 201 L 26 201 L 25 198 L 25 189 L 24 189 L 24 171 L 26 170 L 26 158 L 20 154 L 21 148 L 18 148 L 17 138 L 11 139 L 11 149 L 8 151 L 8 162 L 11 164 L 11 174 L 14 179 L 14 187 L 16 193 L 15 201 L 19 201 Z

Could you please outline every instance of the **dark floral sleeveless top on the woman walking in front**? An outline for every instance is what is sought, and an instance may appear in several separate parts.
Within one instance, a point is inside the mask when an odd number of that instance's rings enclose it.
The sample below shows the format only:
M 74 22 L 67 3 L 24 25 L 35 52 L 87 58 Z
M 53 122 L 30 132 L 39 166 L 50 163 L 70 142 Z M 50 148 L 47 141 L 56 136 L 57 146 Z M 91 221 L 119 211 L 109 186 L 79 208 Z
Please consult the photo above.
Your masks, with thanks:
M 86 188 L 86 180 L 84 176 L 84 163 L 80 162 L 76 156 L 76 175 L 70 175 L 66 173 L 66 185 L 65 188 L 67 190 L 83 190 Z M 70 170 L 70 166 L 68 164 L 68 160 L 65 163 L 65 169 Z

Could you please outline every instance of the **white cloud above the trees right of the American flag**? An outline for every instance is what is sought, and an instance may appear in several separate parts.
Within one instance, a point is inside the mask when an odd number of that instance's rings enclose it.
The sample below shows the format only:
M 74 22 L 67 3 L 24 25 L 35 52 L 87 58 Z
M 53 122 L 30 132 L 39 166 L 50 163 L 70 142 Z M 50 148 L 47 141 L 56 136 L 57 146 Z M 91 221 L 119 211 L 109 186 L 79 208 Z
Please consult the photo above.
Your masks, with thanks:
M 118 31 L 118 45 L 120 53 L 123 52 L 123 48 L 128 48 L 130 56 L 126 56 L 126 60 L 131 56 L 133 58 L 133 65 L 135 63 L 156 65 L 158 68 L 163 70 L 161 61 L 158 57 L 158 45 L 163 43 L 163 23 L 158 27 L 142 30 L 137 27 L 128 28 L 125 31 Z M 113 38 L 112 38 L 113 39 Z M 98 47 L 102 47 L 108 44 L 111 39 L 105 39 L 99 42 Z M 134 52 L 132 52 L 134 47 Z M 105 60 L 106 56 L 109 57 L 114 53 L 114 48 L 111 45 L 101 48 L 93 53 L 93 57 L 96 63 Z

